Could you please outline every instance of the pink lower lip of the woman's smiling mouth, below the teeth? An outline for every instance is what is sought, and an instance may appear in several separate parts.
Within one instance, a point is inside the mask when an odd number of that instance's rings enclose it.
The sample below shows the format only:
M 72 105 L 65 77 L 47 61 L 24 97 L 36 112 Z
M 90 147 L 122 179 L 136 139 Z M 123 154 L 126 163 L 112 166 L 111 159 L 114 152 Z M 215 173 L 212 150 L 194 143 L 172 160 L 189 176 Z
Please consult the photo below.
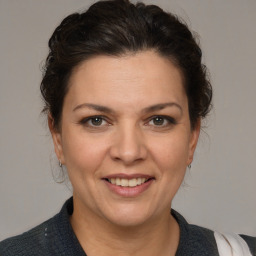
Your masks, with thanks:
M 141 185 L 138 185 L 136 187 L 122 187 L 114 185 L 106 180 L 104 180 L 107 187 L 114 192 L 115 194 L 123 197 L 136 197 L 143 193 L 145 190 L 147 190 L 150 185 L 152 185 L 154 179 L 151 179 Z

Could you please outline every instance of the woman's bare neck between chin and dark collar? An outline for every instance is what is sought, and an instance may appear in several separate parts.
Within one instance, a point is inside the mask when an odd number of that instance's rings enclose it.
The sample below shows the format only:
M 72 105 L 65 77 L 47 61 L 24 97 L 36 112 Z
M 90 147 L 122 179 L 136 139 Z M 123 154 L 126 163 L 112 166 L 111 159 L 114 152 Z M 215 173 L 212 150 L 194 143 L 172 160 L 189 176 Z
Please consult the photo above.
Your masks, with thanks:
M 70 221 L 82 248 L 90 256 L 171 256 L 179 243 L 179 226 L 169 209 L 139 226 L 120 227 L 79 209 L 74 200 Z

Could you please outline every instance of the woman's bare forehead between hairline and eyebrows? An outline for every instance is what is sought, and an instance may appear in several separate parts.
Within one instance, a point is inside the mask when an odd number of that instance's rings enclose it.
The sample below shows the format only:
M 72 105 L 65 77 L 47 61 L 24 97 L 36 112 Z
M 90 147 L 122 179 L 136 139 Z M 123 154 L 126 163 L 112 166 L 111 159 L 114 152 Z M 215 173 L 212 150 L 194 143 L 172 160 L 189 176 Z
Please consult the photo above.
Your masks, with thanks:
M 147 101 L 182 101 L 185 91 L 181 71 L 167 58 L 145 51 L 84 61 L 73 71 L 66 97 L 73 105 L 83 101 L 108 104 L 120 101 L 134 105 Z

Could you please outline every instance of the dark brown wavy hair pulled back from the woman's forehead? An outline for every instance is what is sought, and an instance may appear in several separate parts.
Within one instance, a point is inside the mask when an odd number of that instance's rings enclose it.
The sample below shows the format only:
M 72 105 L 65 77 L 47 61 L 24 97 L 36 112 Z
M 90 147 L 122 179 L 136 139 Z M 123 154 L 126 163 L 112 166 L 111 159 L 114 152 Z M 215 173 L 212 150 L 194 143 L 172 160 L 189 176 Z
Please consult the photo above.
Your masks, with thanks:
M 210 110 L 212 88 L 201 49 L 186 24 L 158 6 L 99 1 L 83 13 L 66 17 L 51 36 L 49 48 L 40 89 L 43 111 L 51 115 L 56 129 L 73 69 L 98 55 L 154 50 L 182 71 L 191 127 Z

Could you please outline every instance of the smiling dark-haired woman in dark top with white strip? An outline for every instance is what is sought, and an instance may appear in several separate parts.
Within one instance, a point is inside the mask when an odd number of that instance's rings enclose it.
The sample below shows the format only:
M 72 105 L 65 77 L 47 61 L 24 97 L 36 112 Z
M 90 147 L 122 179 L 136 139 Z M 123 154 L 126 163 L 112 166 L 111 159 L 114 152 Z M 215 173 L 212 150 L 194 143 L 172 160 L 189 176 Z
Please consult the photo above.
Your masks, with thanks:
M 44 111 L 73 197 L 0 255 L 256 255 L 255 238 L 171 210 L 212 97 L 187 26 L 156 6 L 103 1 L 65 18 L 49 47 Z

